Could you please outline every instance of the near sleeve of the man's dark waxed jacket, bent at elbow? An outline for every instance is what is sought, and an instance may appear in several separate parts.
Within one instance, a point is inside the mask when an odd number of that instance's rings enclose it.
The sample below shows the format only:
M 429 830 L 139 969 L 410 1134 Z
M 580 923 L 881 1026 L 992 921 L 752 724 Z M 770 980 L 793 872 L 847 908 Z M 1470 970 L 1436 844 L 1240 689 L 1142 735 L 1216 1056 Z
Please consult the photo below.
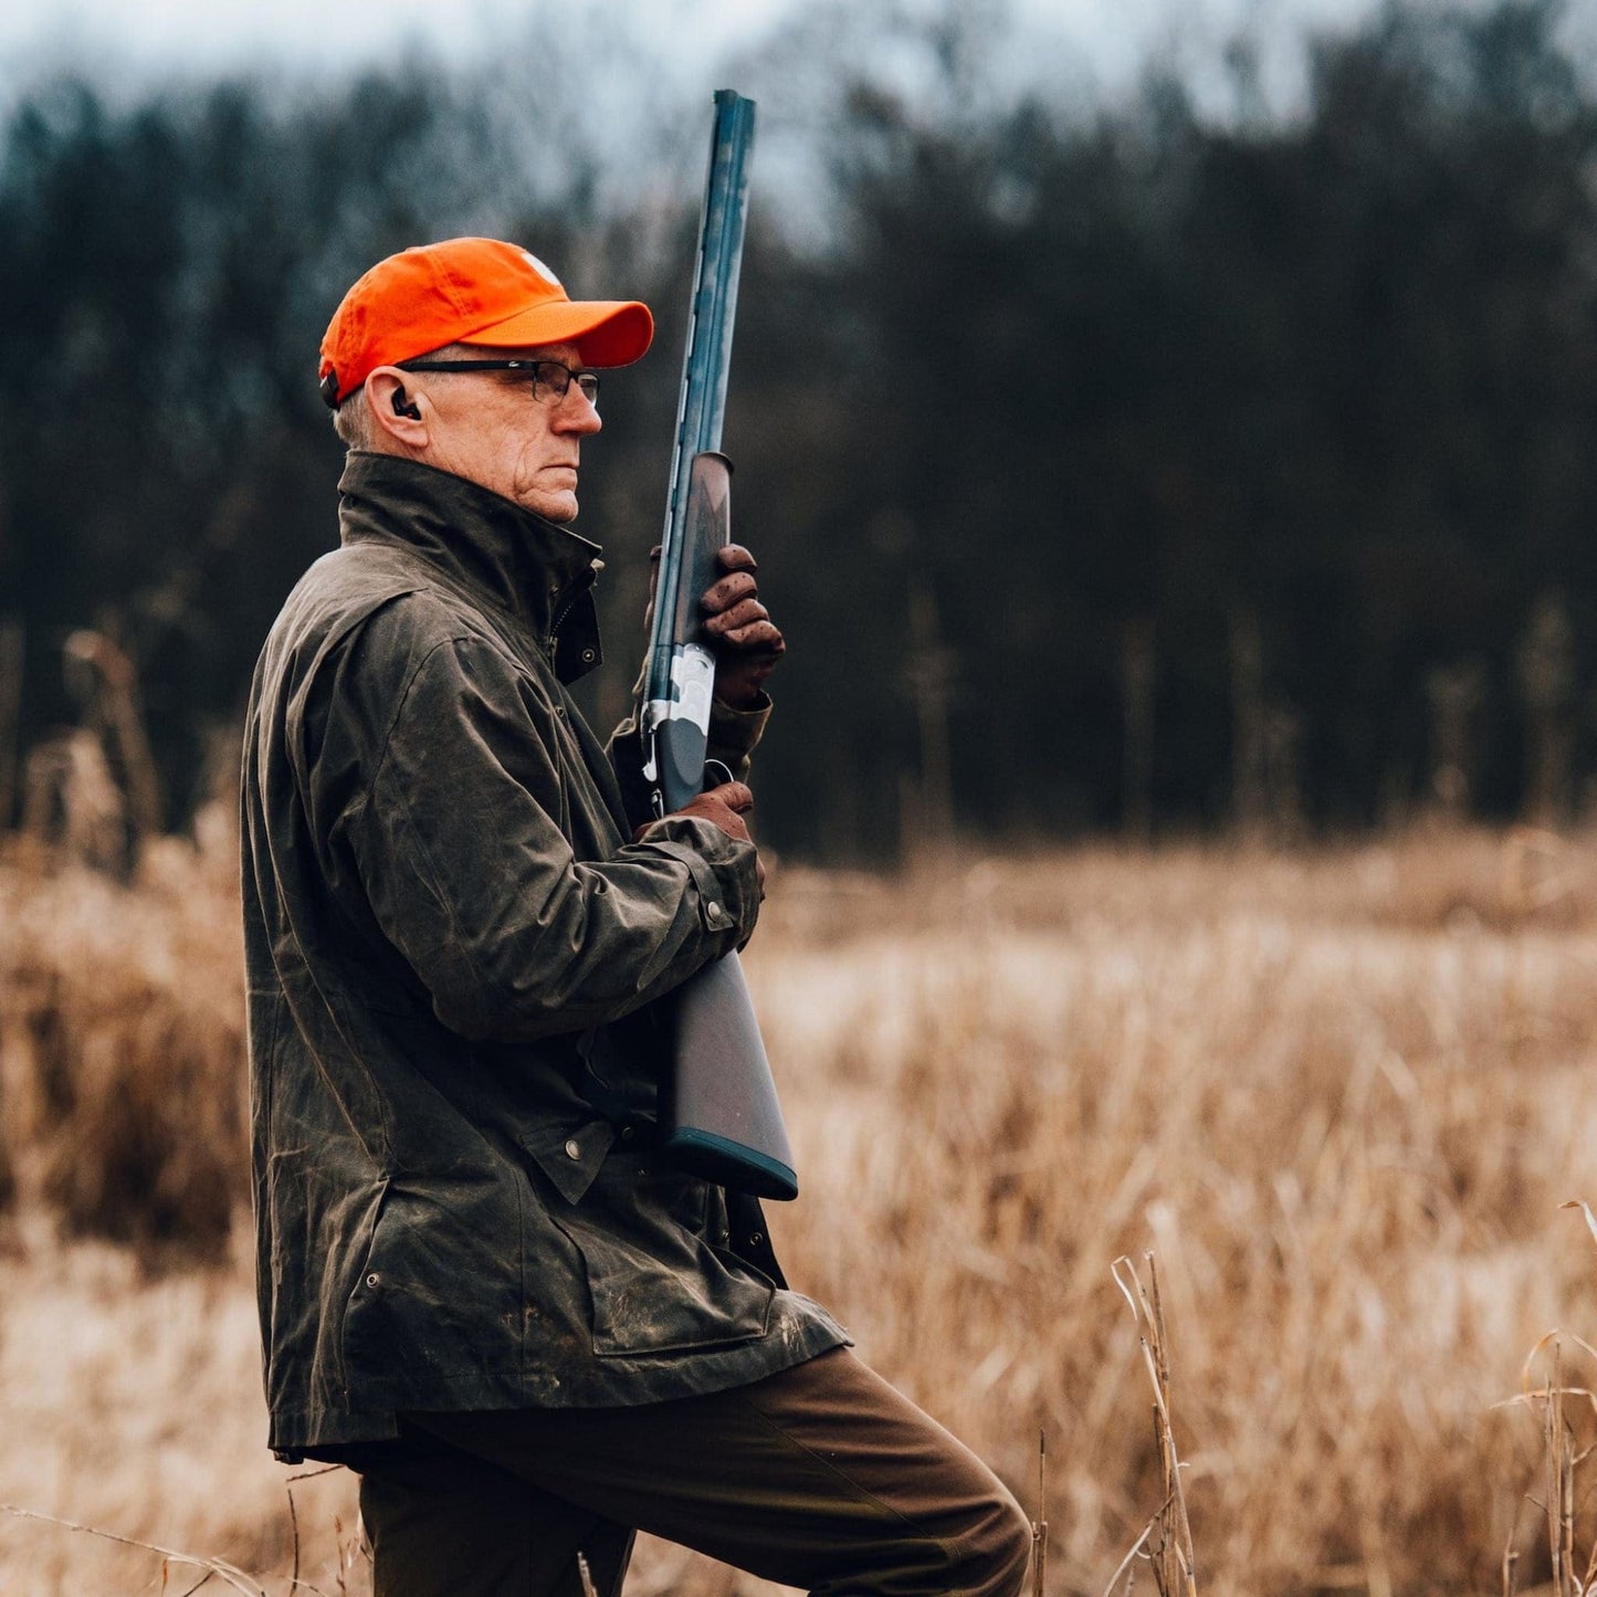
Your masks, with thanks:
M 575 858 L 572 733 L 492 644 L 450 639 L 412 669 L 345 830 L 372 913 L 471 1038 L 586 1030 L 669 992 L 746 939 L 755 853 L 676 819 Z

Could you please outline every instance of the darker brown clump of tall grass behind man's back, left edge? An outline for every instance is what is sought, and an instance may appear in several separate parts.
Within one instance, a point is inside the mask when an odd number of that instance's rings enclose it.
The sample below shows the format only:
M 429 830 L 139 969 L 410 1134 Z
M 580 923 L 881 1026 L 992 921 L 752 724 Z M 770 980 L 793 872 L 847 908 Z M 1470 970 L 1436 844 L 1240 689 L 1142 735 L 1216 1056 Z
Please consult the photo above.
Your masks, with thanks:
M 0 856 L 0 1164 L 77 1234 L 219 1258 L 244 1187 L 238 853 L 220 811 L 131 885 Z

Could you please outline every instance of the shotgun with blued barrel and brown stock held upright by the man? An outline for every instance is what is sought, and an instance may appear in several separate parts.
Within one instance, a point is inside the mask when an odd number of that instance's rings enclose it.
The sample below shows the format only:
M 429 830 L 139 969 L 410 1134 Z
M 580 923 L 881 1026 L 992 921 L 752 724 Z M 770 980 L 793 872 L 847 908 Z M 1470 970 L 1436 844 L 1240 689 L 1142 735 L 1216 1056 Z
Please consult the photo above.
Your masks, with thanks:
M 699 640 L 699 597 L 720 575 L 715 551 L 731 541 L 731 463 L 720 454 L 720 428 L 752 144 L 754 101 L 720 89 L 644 672 L 644 779 L 656 814 L 680 810 L 704 787 L 715 658 Z M 666 1156 L 757 1198 L 795 1198 L 787 1127 L 738 955 L 701 969 L 663 1008 L 672 1027 L 660 1119 Z

